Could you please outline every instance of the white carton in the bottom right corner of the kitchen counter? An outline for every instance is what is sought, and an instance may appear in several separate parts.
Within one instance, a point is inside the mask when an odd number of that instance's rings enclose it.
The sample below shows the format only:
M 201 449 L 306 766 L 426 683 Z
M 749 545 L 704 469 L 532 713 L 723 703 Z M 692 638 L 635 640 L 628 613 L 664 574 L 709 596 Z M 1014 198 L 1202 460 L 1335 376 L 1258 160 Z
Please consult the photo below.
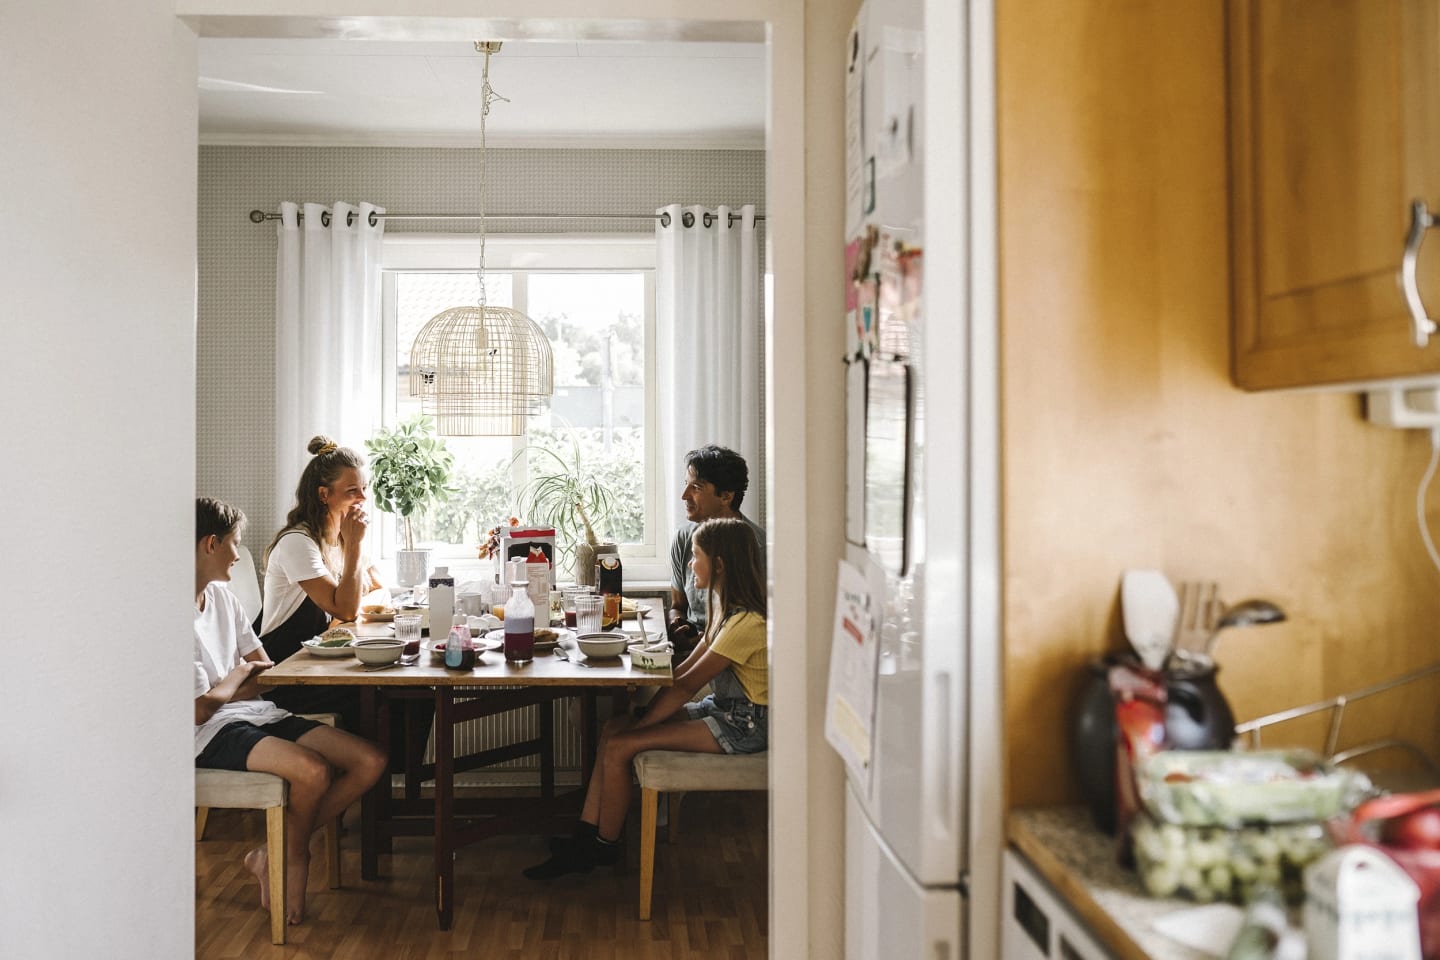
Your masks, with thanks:
M 1372 846 L 1331 851 L 1305 871 L 1309 960 L 1420 960 L 1420 888 Z

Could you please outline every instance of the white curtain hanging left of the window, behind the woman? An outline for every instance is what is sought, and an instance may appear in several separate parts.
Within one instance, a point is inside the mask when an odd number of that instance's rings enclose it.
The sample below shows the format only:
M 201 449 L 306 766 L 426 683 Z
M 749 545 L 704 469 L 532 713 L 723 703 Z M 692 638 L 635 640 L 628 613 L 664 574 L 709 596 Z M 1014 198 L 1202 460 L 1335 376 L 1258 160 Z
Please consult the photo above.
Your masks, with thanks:
M 304 217 L 301 217 L 304 212 Z M 281 203 L 275 255 L 275 504 L 284 521 L 325 433 L 364 453 L 380 413 L 380 237 L 370 203 Z

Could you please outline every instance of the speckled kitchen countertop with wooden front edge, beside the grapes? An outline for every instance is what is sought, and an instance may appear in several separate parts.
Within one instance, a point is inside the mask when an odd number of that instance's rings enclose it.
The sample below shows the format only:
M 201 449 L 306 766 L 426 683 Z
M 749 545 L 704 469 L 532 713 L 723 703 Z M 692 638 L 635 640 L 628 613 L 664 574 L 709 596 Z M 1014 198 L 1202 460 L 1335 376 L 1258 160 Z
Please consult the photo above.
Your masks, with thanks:
M 1097 830 L 1084 807 L 1011 810 L 1005 838 L 1119 960 L 1207 960 L 1151 925 L 1197 904 L 1148 895 L 1135 872 L 1115 862 L 1115 838 Z

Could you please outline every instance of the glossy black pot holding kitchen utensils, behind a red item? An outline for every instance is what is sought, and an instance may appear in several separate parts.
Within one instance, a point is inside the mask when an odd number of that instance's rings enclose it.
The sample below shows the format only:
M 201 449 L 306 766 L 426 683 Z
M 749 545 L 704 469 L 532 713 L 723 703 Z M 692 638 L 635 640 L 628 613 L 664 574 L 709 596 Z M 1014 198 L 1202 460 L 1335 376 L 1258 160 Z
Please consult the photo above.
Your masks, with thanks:
M 1071 756 L 1080 793 L 1090 816 L 1106 833 L 1115 832 L 1115 750 L 1120 735 L 1110 695 L 1110 668 L 1139 666 L 1132 652 L 1109 653 L 1089 665 L 1089 676 L 1076 705 Z M 1217 666 L 1208 656 L 1172 659 L 1165 678 L 1165 738 L 1169 750 L 1228 750 L 1236 737 L 1236 715 L 1215 684 Z

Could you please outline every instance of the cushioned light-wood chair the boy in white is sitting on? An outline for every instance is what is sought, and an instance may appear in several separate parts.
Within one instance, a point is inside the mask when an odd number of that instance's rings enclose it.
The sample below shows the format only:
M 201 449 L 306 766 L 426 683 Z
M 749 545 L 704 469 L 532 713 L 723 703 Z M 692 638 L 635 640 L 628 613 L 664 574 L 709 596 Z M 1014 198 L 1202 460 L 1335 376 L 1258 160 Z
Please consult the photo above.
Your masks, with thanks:
M 336 725 L 336 714 L 304 714 Z M 194 839 L 204 839 L 210 807 L 265 810 L 265 849 L 269 855 L 271 943 L 285 943 L 285 800 L 289 787 L 274 773 L 248 770 L 194 771 Z M 325 823 L 325 877 L 330 888 L 340 887 L 340 818 Z

